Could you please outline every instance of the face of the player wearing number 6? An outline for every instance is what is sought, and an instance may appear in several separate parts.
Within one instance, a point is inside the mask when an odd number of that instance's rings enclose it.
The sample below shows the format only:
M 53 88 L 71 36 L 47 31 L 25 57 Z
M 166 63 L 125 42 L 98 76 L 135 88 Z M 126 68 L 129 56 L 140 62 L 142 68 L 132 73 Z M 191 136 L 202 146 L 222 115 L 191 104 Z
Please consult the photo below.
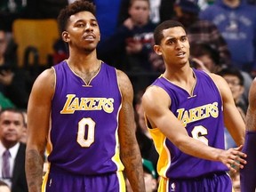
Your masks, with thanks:
M 185 30 L 181 27 L 167 28 L 160 45 L 155 45 L 155 52 L 162 55 L 168 66 L 184 66 L 188 63 L 189 43 Z

